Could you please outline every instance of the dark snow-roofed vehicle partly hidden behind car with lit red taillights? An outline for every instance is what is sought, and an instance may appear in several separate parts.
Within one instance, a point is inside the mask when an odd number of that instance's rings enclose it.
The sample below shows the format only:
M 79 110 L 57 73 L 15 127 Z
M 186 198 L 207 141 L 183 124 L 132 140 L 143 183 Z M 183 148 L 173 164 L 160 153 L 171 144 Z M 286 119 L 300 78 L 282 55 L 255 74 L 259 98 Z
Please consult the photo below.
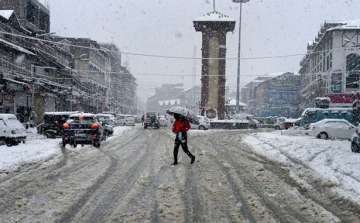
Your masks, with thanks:
M 38 132 L 47 138 L 61 138 L 63 135 L 63 125 L 70 115 L 77 112 L 46 112 L 44 121 L 38 126 Z

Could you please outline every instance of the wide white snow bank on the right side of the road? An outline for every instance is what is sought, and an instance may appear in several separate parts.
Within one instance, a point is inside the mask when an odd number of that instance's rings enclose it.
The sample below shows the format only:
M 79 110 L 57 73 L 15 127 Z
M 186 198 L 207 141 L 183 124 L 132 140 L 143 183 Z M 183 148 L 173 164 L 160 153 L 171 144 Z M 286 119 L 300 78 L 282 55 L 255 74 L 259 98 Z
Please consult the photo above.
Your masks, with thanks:
M 288 165 L 301 163 L 351 195 L 360 195 L 360 155 L 349 141 L 288 136 L 281 132 L 256 133 L 244 138 L 255 152 Z

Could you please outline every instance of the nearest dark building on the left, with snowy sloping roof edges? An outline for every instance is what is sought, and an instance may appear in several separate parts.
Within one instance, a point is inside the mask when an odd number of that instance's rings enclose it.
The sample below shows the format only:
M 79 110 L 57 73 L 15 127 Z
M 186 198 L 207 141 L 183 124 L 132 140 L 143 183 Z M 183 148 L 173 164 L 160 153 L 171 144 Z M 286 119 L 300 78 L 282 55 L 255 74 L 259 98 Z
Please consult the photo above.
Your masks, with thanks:
M 16 113 L 24 121 L 34 111 L 41 121 L 45 111 L 67 107 L 70 88 L 64 83 L 70 76 L 70 52 L 14 36 L 30 34 L 21 25 L 16 10 L 0 10 L 0 31 L 8 33 L 0 35 L 1 112 Z

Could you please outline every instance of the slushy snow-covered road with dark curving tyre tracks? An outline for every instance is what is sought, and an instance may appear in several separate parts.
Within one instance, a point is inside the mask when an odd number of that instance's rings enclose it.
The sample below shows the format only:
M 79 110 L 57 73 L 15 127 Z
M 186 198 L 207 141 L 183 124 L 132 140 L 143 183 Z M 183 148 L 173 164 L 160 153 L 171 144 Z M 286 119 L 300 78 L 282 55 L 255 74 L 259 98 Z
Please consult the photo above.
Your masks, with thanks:
M 192 131 L 190 165 L 169 130 L 130 129 L 0 180 L 0 222 L 359 222 L 360 208 L 257 155 L 247 131 Z M 312 181 L 313 180 L 313 181 Z M 341 205 L 340 205 L 341 204 Z

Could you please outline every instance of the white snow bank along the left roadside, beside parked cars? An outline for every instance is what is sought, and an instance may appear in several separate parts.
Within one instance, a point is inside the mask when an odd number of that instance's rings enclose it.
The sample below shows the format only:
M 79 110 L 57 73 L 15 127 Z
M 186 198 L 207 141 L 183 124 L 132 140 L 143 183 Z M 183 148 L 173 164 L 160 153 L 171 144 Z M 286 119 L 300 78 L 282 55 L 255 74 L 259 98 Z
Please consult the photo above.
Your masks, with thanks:
M 58 139 L 43 138 L 13 147 L 0 146 L 0 171 L 14 170 L 22 164 L 46 160 L 58 153 L 61 153 Z

